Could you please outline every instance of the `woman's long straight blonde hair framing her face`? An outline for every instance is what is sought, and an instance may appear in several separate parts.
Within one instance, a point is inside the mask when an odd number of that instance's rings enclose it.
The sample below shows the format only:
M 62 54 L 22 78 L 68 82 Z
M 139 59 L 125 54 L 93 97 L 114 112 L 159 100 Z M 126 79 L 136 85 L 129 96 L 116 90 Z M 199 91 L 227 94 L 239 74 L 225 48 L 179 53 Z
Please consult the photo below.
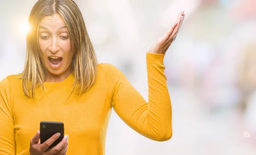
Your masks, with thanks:
M 83 94 L 96 81 L 97 58 L 90 41 L 82 14 L 73 0 L 38 0 L 29 15 L 30 32 L 27 35 L 26 63 L 22 73 L 23 91 L 29 98 L 35 98 L 35 89 L 44 88 L 47 70 L 41 61 L 38 43 L 38 30 L 45 16 L 60 14 L 66 23 L 70 36 L 71 50 L 75 51 L 73 72 L 74 89 L 78 95 Z

